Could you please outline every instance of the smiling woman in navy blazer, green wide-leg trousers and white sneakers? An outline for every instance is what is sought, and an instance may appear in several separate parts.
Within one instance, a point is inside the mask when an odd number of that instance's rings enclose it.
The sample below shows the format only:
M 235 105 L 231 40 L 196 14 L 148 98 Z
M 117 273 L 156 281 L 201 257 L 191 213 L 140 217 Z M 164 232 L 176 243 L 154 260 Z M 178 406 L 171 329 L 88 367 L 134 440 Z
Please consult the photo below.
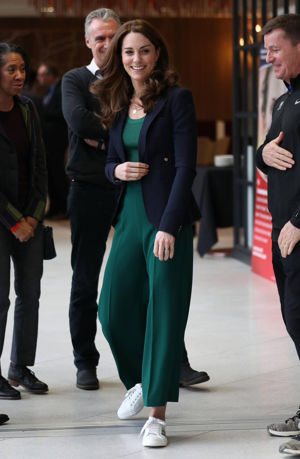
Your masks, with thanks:
M 193 271 L 191 224 L 200 212 L 196 118 L 166 45 L 143 20 L 123 24 L 94 84 L 111 127 L 106 175 L 122 189 L 99 302 L 102 330 L 128 392 L 128 419 L 152 407 L 144 446 L 166 446 L 167 402 L 178 401 Z

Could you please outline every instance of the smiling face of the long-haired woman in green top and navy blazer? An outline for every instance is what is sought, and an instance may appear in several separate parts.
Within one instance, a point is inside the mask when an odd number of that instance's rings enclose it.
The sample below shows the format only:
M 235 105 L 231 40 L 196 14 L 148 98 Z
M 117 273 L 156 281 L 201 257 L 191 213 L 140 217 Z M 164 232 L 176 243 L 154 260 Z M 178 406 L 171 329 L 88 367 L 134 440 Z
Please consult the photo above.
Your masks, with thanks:
M 122 62 L 131 78 L 133 87 L 138 90 L 155 67 L 160 48 L 155 46 L 143 34 L 130 32 L 122 42 Z

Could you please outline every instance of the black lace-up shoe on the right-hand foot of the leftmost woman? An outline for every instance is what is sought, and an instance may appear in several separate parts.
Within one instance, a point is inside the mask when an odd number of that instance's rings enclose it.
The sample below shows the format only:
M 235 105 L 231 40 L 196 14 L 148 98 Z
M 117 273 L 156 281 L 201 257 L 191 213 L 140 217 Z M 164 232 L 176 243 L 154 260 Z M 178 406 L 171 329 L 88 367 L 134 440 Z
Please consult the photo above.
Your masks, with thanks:
M 48 392 L 48 386 L 34 375 L 33 371 L 22 365 L 10 364 L 8 370 L 8 382 L 11 386 L 22 386 L 28 392 L 40 394 Z

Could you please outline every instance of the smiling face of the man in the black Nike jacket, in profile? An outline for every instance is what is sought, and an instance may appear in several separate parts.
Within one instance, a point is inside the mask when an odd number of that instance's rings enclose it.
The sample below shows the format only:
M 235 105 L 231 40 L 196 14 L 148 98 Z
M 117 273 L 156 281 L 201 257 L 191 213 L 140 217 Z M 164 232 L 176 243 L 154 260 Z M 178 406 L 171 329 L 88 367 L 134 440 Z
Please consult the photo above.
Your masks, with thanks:
M 282 29 L 275 29 L 264 36 L 267 50 L 267 63 L 271 63 L 275 77 L 289 83 L 290 78 L 295 78 L 300 73 L 300 43 L 292 45 L 285 38 Z

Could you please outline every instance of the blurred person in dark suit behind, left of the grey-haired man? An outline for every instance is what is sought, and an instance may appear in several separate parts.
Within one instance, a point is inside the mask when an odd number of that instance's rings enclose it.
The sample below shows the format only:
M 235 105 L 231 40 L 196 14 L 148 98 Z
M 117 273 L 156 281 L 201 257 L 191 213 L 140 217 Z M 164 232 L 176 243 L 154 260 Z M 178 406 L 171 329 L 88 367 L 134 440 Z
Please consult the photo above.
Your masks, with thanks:
M 68 146 L 67 123 L 61 107 L 61 77 L 56 67 L 41 64 L 37 80 L 46 88 L 43 98 L 43 141 L 48 171 L 50 207 L 46 218 L 63 219 L 67 212 L 67 176 L 65 154 Z

